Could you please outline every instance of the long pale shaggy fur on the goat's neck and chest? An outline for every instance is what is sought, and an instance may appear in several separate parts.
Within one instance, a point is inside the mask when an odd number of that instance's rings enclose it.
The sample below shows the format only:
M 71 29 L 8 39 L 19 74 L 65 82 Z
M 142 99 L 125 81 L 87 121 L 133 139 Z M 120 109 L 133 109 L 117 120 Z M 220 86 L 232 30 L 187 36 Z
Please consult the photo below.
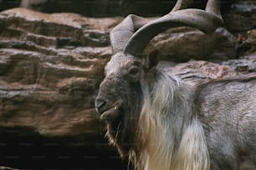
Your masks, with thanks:
M 191 113 L 189 90 L 164 73 L 154 77 L 152 82 L 141 82 L 144 104 L 130 153 L 135 168 L 208 170 L 207 144 L 201 123 Z

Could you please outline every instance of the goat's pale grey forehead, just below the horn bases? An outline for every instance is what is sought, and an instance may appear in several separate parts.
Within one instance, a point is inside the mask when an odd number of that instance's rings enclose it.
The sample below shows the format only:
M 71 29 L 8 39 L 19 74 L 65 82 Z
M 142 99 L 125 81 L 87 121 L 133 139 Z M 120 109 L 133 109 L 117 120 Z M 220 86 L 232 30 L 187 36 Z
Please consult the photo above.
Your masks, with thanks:
M 129 54 L 116 53 L 111 57 L 110 61 L 105 66 L 105 72 L 119 72 L 120 69 L 130 67 L 133 64 L 140 63 L 141 59 L 133 57 Z

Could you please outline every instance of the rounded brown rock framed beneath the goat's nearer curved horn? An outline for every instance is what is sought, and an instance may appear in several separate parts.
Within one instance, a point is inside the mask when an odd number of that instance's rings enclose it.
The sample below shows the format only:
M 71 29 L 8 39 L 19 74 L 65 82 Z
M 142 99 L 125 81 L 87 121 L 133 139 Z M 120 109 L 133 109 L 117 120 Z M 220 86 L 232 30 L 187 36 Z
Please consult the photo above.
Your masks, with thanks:
M 238 40 L 225 28 L 205 34 L 195 28 L 172 28 L 151 40 L 146 51 L 159 51 L 167 61 L 187 62 L 190 59 L 220 62 L 236 57 Z

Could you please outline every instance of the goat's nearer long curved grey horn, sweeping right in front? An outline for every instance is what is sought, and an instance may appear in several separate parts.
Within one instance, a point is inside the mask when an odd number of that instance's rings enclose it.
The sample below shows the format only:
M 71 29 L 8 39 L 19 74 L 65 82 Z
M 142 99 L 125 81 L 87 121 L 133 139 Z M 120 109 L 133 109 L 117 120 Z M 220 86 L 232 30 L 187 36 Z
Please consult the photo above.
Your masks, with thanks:
M 209 0 L 207 2 L 206 11 L 200 9 L 172 11 L 151 23 L 147 23 L 132 35 L 126 43 L 124 53 L 140 57 L 151 38 L 168 28 L 188 26 L 197 28 L 202 32 L 214 32 L 216 28 L 223 24 L 219 1 L 220 0 Z

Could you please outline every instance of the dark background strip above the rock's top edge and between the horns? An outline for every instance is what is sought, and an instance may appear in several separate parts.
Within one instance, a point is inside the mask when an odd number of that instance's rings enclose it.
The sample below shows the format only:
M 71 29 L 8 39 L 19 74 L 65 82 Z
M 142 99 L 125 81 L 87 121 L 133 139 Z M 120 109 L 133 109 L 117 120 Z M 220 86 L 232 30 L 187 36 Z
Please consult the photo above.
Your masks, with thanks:
M 222 1 L 225 13 L 234 0 Z M 12 7 L 28 7 L 44 13 L 79 13 L 88 17 L 141 16 L 166 14 L 175 0 L 1 0 L 0 11 Z M 203 8 L 207 0 L 194 0 L 192 7 Z

